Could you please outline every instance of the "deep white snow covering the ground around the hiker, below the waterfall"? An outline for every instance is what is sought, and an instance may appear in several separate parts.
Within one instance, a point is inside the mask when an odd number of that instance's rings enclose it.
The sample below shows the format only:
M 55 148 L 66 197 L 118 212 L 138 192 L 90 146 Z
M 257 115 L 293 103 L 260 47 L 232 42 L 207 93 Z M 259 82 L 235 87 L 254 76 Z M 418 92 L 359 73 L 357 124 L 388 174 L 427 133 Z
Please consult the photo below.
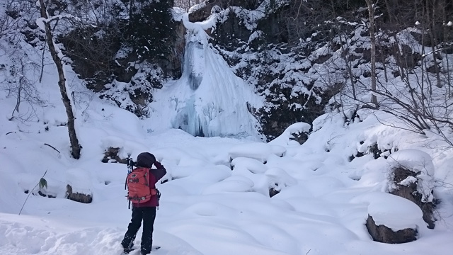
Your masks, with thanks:
M 8 101 L 2 98 L 2 106 L 11 106 Z M 449 254 L 452 249 L 452 153 L 428 150 L 435 177 L 444 183 L 435 189 L 442 198 L 440 220 L 430 230 L 416 206 L 382 193 L 390 157 L 348 162 L 365 135 L 394 140 L 401 149 L 418 145 L 417 137 L 384 128 L 372 117 L 349 130 L 333 117 L 299 146 L 287 136 L 259 144 L 192 137 L 181 130 L 147 134 L 134 115 L 98 103 L 90 107 L 96 105 L 104 111 L 77 122 L 84 146 L 79 160 L 69 157 L 65 127 L 49 125 L 46 132 L 40 122 L 22 130 L 21 123 L 6 120 L 8 107 L 1 108 L 0 254 L 120 254 L 130 220 L 127 168 L 101 163 L 110 146 L 132 157 L 151 152 L 168 169 L 164 179 L 170 181 L 159 185 L 163 195 L 154 232 L 154 244 L 162 248 L 154 254 Z M 32 190 L 45 171 L 47 192 L 57 198 L 30 196 L 18 215 L 24 191 Z M 93 193 L 93 203 L 65 199 L 71 181 Z M 270 187 L 280 193 L 270 198 Z M 373 242 L 364 225 L 370 210 L 382 212 L 379 220 L 396 228 L 416 225 L 419 239 Z

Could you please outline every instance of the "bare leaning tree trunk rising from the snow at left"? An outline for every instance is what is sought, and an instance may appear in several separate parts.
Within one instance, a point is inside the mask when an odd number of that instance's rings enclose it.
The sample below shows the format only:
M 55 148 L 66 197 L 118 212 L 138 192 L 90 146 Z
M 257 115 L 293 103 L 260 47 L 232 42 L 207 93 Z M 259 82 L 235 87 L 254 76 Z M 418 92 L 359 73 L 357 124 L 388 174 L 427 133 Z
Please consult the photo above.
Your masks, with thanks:
M 41 17 L 47 20 L 47 10 L 44 4 L 44 0 L 40 0 L 41 6 Z M 80 150 L 81 146 L 79 145 L 79 140 L 76 136 L 76 128 L 74 128 L 74 113 L 72 112 L 71 101 L 69 100 L 67 91 L 66 91 L 66 78 L 64 77 L 64 70 L 62 59 L 59 57 L 57 49 L 54 45 L 52 30 L 50 28 L 50 23 L 44 21 L 45 25 L 45 35 L 47 37 L 47 45 L 49 45 L 50 55 L 52 55 L 52 59 L 57 66 L 58 71 L 58 86 L 59 91 L 62 94 L 62 100 L 64 104 L 64 108 L 66 108 L 66 114 L 68 115 L 68 132 L 69 132 L 69 141 L 71 142 L 71 154 L 74 159 L 80 158 Z

